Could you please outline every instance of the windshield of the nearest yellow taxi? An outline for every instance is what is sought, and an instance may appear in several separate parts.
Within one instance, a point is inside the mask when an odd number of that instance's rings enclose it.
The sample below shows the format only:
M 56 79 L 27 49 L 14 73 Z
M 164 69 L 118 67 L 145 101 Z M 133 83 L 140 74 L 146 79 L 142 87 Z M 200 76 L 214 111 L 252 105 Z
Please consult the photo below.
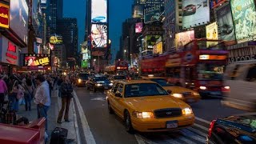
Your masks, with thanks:
M 169 95 L 166 90 L 156 83 L 137 83 L 126 85 L 125 98 Z

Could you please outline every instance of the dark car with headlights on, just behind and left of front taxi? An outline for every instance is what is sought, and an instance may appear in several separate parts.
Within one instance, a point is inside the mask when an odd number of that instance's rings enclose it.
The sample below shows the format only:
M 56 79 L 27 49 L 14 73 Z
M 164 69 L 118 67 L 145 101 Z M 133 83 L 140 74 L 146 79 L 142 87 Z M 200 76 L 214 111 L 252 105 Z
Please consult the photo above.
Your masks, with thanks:
M 86 83 L 87 90 L 109 90 L 113 86 L 113 83 L 110 82 L 105 76 L 95 75 L 93 78 L 90 78 Z

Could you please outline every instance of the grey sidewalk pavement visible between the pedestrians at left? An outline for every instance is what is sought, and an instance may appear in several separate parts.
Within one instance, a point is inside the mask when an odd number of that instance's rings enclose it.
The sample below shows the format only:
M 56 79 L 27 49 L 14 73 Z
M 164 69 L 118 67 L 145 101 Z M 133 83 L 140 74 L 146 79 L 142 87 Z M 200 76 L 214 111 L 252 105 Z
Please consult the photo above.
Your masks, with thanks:
M 61 109 L 61 98 L 58 98 L 58 90 L 53 90 L 52 91 L 52 97 L 51 97 L 51 106 L 50 109 L 48 110 L 48 143 L 50 143 L 50 134 L 54 130 L 55 127 L 62 127 L 68 130 L 68 140 L 74 140 L 74 142 L 68 142 L 68 143 L 77 143 L 77 134 L 76 134 L 76 129 L 75 129 L 75 123 L 76 120 L 74 117 L 76 117 L 75 110 L 74 110 L 74 102 L 70 103 L 70 122 L 64 122 L 62 120 L 62 124 L 57 123 L 57 117 L 58 117 L 58 111 Z M 32 107 L 31 111 L 26 111 L 24 105 L 19 106 L 19 111 L 18 111 L 18 118 L 19 117 L 26 117 L 29 119 L 30 122 L 34 121 L 35 119 L 38 118 L 37 114 L 37 107 L 32 102 Z

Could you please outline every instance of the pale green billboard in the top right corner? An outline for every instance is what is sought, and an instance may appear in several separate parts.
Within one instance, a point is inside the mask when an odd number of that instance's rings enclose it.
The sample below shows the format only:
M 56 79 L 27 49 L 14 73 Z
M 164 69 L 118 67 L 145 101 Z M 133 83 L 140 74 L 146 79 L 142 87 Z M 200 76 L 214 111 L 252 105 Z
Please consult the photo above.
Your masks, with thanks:
M 256 41 L 254 0 L 230 0 L 235 36 L 238 43 Z

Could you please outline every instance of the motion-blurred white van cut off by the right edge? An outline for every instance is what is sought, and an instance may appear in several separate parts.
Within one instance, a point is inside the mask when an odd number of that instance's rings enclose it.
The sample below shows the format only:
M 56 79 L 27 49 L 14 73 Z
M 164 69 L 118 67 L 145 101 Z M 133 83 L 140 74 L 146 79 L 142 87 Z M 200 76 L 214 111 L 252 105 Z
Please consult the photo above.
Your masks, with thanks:
M 223 104 L 242 110 L 256 110 L 256 61 L 226 66 Z

